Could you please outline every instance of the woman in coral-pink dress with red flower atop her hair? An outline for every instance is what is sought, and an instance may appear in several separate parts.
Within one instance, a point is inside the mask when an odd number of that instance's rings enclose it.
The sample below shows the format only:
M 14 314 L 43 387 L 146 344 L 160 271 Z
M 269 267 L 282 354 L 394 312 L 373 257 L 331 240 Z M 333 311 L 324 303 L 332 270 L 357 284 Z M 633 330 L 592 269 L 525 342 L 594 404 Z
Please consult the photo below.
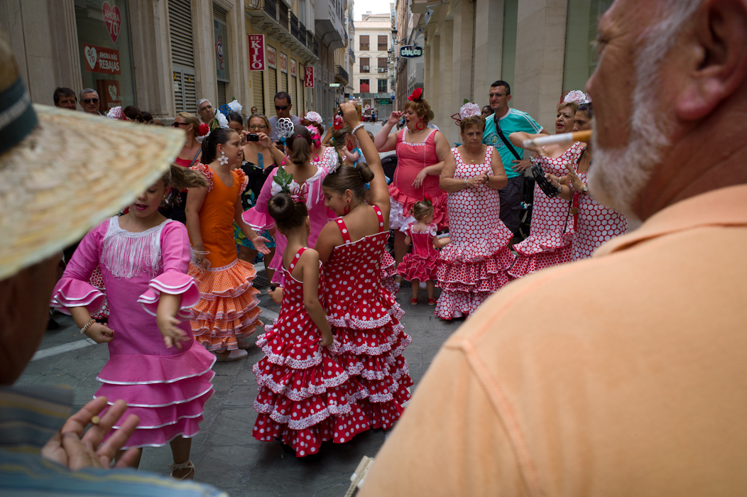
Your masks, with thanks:
M 430 104 L 423 99 L 423 89 L 415 88 L 408 97 L 403 112 L 394 111 L 376 135 L 374 144 L 379 152 L 397 150 L 397 169 L 389 185 L 391 213 L 389 226 L 394 229 L 394 259 L 397 264 L 407 253 L 405 230 L 415 221 L 412 206 L 427 195 L 433 203 L 433 222 L 439 230 L 448 226 L 446 195 L 438 186 L 438 175 L 449 155 L 449 143 L 444 135 L 428 127 L 433 120 Z M 400 117 L 406 126 L 401 132 L 389 133 Z

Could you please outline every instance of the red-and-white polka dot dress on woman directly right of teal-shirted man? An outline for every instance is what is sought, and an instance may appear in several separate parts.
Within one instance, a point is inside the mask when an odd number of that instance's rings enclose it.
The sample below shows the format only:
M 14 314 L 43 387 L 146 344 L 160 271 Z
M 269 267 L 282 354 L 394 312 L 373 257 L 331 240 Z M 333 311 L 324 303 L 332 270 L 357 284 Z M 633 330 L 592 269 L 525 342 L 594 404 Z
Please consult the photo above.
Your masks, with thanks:
M 558 158 L 537 157 L 545 173 L 563 176 L 565 162 L 574 163 L 581 152 L 581 143 L 576 142 Z M 573 221 L 568 217 L 568 201 L 560 197 L 550 198 L 542 188 L 534 185 L 532 224 L 529 237 L 514 245 L 516 259 L 509 275 L 521 278 L 535 271 L 571 261 Z M 568 226 L 566 226 L 566 220 Z

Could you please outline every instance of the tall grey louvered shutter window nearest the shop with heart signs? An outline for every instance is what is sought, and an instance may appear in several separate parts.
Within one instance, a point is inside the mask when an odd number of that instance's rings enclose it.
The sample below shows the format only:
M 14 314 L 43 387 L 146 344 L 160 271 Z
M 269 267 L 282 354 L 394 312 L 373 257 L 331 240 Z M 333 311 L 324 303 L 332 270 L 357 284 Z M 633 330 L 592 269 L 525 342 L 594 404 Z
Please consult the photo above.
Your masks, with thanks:
M 169 0 L 169 37 L 173 72 L 174 111 L 197 113 L 192 10 L 189 0 Z

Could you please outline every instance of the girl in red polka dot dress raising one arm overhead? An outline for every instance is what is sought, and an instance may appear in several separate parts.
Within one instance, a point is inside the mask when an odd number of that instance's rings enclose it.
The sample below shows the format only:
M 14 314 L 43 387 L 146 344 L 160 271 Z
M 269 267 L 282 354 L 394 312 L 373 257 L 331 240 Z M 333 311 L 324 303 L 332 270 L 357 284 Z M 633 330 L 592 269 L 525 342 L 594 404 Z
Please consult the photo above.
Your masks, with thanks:
M 324 179 L 326 205 L 341 218 L 324 226 L 316 248 L 329 282 L 325 307 L 340 343 L 338 362 L 361 383 L 361 396 L 367 398 L 359 404 L 371 427 L 388 428 L 409 400 L 412 379 L 402 352 L 412 338 L 399 321 L 403 310 L 379 282 L 389 238 L 389 192 L 379 153 L 359 126 L 355 106 L 344 103 L 340 108 L 369 165 L 343 165 Z M 366 182 L 371 184 L 371 206 L 365 202 Z

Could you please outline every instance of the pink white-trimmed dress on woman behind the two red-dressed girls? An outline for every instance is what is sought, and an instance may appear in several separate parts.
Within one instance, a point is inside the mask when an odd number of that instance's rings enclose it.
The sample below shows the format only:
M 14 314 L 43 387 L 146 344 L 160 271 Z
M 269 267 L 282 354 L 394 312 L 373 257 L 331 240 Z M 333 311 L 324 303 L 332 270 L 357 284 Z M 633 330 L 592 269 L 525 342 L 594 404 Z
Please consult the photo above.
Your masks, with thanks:
M 326 223 L 336 217 L 335 213 L 327 209 L 324 205 L 324 192 L 322 191 L 322 182 L 329 173 L 329 164 L 334 164 L 336 161 L 338 161 L 337 152 L 335 152 L 334 148 L 328 146 L 324 150 L 320 160 L 313 162 L 313 164 L 317 165 L 317 172 L 314 176 L 307 179 L 303 185 L 299 185 L 295 181 L 291 182 L 291 197 L 294 197 L 295 200 L 305 202 L 306 209 L 309 209 L 309 217 L 311 218 L 309 245 L 311 246 L 316 244 L 317 237 Z M 265 229 L 275 227 L 275 220 L 267 212 L 267 203 L 270 202 L 270 198 L 273 195 L 279 194 L 282 191 L 280 185 L 274 181 L 278 170 L 279 167 L 276 167 L 270 173 L 267 181 L 264 182 L 264 186 L 262 186 L 257 203 L 255 203 L 252 209 L 243 214 L 244 222 L 254 229 L 255 232 L 261 233 Z M 267 268 L 275 271 L 272 283 L 283 285 L 285 277 L 282 271 L 282 254 L 285 252 L 285 246 L 288 245 L 288 239 L 282 233 L 275 232 L 275 241 L 277 247 L 275 256 L 273 256 Z

